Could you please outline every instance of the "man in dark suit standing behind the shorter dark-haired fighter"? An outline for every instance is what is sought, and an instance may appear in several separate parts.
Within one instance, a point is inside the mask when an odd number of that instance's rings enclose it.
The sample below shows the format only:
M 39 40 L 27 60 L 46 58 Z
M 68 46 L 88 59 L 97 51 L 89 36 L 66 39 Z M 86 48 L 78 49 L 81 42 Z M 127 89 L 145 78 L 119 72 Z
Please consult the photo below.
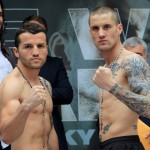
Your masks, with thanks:
M 23 24 L 27 22 L 37 23 L 48 32 L 47 22 L 42 16 L 28 16 L 23 20 Z M 59 150 L 68 150 L 65 130 L 63 122 L 61 121 L 60 106 L 72 102 L 73 90 L 62 59 L 47 56 L 46 62 L 40 70 L 40 76 L 48 80 L 52 86 L 52 100 L 54 106 L 52 117 L 58 137 Z

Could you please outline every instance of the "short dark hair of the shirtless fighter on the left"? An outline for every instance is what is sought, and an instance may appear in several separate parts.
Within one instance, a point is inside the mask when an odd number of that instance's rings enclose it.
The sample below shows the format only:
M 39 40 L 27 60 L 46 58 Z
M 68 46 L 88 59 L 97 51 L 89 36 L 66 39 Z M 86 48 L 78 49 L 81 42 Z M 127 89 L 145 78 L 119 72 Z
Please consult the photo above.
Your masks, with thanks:
M 31 33 L 31 34 L 37 34 L 40 32 L 45 33 L 46 35 L 46 42 L 48 43 L 48 36 L 47 36 L 47 32 L 46 29 L 44 27 L 41 27 L 40 25 L 36 24 L 36 23 L 24 23 L 22 24 L 22 26 L 20 28 L 17 29 L 16 34 L 15 34 L 15 47 L 19 47 L 20 44 L 20 34 L 22 33 Z

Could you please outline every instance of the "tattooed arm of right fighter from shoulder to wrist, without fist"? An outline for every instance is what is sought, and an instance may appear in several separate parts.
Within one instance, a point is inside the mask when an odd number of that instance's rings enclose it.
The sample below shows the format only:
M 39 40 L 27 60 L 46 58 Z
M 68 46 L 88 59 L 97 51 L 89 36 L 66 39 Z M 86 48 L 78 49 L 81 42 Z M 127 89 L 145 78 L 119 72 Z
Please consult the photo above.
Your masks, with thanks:
M 133 55 L 123 61 L 130 90 L 115 84 L 110 93 L 139 115 L 150 117 L 150 68 L 144 59 Z

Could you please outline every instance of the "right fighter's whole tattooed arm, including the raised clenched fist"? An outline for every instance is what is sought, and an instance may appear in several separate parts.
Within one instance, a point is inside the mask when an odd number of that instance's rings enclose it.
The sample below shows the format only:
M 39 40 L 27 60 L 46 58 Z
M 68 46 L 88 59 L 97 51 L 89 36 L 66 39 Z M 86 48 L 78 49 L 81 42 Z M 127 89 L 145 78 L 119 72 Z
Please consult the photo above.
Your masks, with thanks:
M 150 118 L 150 68 L 139 55 L 124 57 L 122 64 L 115 64 L 127 77 L 130 89 L 115 82 L 111 70 L 99 67 L 93 77 L 95 84 L 109 91 L 138 115 Z

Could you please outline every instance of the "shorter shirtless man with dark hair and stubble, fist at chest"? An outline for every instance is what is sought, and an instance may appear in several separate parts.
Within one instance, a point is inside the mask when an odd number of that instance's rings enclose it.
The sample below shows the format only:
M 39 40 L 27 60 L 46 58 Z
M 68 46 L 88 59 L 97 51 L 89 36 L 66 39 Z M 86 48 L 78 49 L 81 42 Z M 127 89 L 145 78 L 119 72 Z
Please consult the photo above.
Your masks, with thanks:
M 0 86 L 0 135 L 12 150 L 57 150 L 53 141 L 51 86 L 39 77 L 45 63 L 47 35 L 26 23 L 15 35 L 17 67 Z

